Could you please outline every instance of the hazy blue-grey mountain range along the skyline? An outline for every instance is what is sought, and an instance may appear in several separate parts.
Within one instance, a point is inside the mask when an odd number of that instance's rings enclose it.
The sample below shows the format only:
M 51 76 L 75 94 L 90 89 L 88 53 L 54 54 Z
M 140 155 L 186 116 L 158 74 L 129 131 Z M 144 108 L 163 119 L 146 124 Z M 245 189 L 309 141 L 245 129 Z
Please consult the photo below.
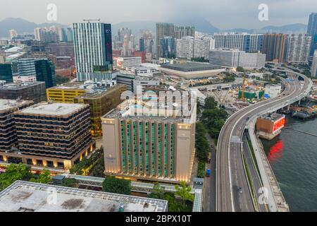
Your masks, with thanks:
M 213 34 L 213 32 L 283 32 L 283 33 L 305 33 L 307 30 L 307 25 L 302 23 L 282 25 L 282 26 L 266 26 L 261 29 L 244 29 L 244 28 L 234 28 L 229 30 L 221 30 L 213 26 L 208 20 L 200 17 L 195 18 L 175 18 L 170 20 L 170 23 L 175 25 L 190 25 L 194 26 L 195 29 L 199 32 Z M 140 30 L 152 30 L 156 32 L 154 21 L 132 21 L 132 22 L 123 22 L 112 25 L 113 33 L 116 33 L 119 28 L 130 28 L 132 32 L 137 33 Z M 6 18 L 0 21 L 0 37 L 8 37 L 8 31 L 11 29 L 16 30 L 19 34 L 23 33 L 33 33 L 35 28 L 39 27 L 50 27 L 53 25 L 60 25 L 66 27 L 68 25 L 61 25 L 59 23 L 33 23 L 28 20 L 21 18 Z

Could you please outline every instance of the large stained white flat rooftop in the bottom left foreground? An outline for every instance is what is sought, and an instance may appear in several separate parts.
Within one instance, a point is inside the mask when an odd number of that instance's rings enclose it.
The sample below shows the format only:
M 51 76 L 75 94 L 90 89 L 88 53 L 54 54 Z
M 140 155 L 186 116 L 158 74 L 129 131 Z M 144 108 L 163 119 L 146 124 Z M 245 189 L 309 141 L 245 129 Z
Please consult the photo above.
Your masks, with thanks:
M 56 198 L 49 199 L 49 194 Z M 0 192 L 0 211 L 6 212 L 164 212 L 167 208 L 168 201 L 160 199 L 22 181 Z

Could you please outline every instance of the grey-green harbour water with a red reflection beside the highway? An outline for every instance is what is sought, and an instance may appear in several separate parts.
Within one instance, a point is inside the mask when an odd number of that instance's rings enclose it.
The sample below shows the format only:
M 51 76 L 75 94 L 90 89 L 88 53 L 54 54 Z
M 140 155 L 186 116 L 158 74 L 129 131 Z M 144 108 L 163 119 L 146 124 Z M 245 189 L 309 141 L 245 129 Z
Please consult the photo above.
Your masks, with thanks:
M 317 211 L 317 119 L 286 118 L 282 133 L 262 140 L 290 211 Z M 292 129 L 298 130 L 293 131 Z

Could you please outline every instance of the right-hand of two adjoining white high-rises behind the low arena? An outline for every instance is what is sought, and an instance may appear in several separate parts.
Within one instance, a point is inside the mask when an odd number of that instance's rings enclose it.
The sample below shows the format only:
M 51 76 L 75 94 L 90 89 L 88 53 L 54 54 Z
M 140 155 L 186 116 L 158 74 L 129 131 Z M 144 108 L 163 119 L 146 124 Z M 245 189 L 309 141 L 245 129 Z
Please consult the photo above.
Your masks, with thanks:
M 215 40 L 211 36 L 196 37 L 194 39 L 194 57 L 209 59 L 209 51 L 215 49 Z

